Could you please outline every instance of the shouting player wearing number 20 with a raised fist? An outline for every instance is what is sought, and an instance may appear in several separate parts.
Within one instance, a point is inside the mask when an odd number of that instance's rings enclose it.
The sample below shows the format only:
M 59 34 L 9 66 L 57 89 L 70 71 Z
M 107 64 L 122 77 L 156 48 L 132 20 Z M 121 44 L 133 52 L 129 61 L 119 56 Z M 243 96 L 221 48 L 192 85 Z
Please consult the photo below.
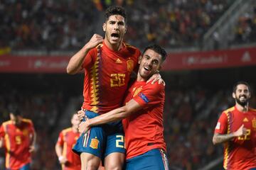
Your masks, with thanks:
M 137 70 L 141 52 L 123 42 L 126 21 L 124 8 L 107 8 L 102 26 L 105 39 L 93 35 L 68 63 L 68 74 L 85 70 L 82 109 L 88 118 L 122 106 L 130 75 Z M 156 81 L 161 77 L 154 74 L 151 78 Z M 92 128 L 90 134 L 82 134 L 73 148 L 80 154 L 82 169 L 97 169 L 100 159 L 105 161 L 106 169 L 122 169 L 125 157 L 122 123 L 118 121 L 105 126 Z

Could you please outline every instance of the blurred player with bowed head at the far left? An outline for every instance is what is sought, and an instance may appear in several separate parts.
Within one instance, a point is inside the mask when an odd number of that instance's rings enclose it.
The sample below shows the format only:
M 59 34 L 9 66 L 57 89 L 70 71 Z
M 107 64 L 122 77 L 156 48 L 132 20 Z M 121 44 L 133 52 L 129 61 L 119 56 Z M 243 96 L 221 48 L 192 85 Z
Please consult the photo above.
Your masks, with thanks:
M 10 120 L 0 127 L 0 147 L 6 150 L 6 169 L 29 170 L 36 144 L 33 123 L 23 118 L 18 108 L 12 108 L 9 115 Z

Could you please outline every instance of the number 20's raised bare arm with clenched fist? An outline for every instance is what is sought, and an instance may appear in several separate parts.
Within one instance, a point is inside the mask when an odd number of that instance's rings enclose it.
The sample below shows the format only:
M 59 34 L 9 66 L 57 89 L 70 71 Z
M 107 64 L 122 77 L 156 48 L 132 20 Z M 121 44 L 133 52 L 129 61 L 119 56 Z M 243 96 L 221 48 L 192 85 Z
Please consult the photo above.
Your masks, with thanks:
M 85 56 L 89 52 L 90 49 L 96 47 L 98 44 L 103 42 L 103 38 L 101 35 L 93 35 L 89 42 L 85 46 L 82 47 L 80 51 L 78 51 L 73 57 L 71 57 L 68 62 L 67 73 L 68 74 L 76 74 L 80 71 L 82 67 L 82 62 L 85 60 Z

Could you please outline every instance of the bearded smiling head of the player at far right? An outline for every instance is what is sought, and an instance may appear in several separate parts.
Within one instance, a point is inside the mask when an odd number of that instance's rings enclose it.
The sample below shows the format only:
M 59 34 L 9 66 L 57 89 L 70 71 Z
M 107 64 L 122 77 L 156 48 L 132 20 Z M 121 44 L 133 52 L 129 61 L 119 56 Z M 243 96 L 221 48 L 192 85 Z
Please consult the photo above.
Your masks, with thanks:
M 235 93 L 233 93 L 233 98 L 241 106 L 247 105 L 250 99 L 250 91 L 245 84 L 239 84 Z

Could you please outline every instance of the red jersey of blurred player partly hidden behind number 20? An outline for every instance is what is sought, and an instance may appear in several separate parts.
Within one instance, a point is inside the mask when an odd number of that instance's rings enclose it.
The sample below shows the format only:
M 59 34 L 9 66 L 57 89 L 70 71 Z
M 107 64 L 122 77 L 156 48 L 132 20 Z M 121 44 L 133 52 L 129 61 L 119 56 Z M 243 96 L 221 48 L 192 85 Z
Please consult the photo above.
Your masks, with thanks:
M 63 170 L 81 169 L 80 157 L 72 151 L 79 136 L 79 132 L 73 132 L 72 128 L 67 128 L 60 132 L 57 143 L 63 147 L 63 157 L 68 159 L 68 162 L 63 166 Z

